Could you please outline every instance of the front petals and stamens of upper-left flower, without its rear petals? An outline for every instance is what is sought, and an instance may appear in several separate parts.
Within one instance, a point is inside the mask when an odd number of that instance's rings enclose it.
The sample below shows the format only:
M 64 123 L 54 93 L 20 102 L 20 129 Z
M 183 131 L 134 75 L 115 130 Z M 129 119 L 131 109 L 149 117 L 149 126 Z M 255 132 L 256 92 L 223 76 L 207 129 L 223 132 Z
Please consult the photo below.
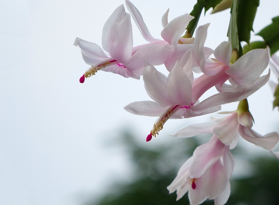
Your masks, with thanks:
M 135 75 L 132 71 L 143 69 L 145 60 L 152 65 L 161 65 L 170 54 L 171 49 L 166 46 L 166 42 L 154 41 L 157 42 L 133 47 L 130 14 L 125 12 L 123 4 L 120 5 L 108 18 L 102 31 L 102 46 L 109 54 L 105 54 L 103 49 L 95 43 L 76 38 L 74 45 L 81 48 L 85 63 L 91 65 L 81 77 L 80 82 L 83 83 L 84 78 L 94 75 L 100 69 L 126 78 L 139 79 L 139 75 Z M 133 55 L 135 57 L 131 59 Z M 143 63 L 136 63 L 139 60 Z M 131 65 L 132 62 L 134 62 L 133 65 Z

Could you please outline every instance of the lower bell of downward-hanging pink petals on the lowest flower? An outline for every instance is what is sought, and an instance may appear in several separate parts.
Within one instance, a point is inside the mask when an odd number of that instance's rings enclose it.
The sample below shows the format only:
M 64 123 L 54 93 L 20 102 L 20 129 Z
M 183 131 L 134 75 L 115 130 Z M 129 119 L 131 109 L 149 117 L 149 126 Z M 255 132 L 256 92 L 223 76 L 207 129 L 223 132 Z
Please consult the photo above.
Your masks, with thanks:
M 167 189 L 169 193 L 176 190 L 176 200 L 188 191 L 191 205 L 201 204 L 206 198 L 223 205 L 230 196 L 229 179 L 234 166 L 229 147 L 213 135 L 208 143 L 196 148 Z

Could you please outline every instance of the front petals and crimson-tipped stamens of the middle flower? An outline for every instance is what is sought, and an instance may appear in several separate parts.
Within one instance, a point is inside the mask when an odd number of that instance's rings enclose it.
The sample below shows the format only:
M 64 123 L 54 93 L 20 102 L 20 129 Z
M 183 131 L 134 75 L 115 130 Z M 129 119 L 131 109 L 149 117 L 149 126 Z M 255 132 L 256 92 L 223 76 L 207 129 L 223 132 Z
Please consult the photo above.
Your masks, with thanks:
M 143 80 L 146 92 L 155 102 L 133 102 L 125 106 L 124 109 L 136 115 L 159 116 L 146 141 L 151 140 L 152 136 L 156 136 L 168 119 L 205 115 L 220 110 L 222 104 L 247 98 L 267 83 L 270 75 L 269 72 L 266 76 L 257 79 L 252 85 L 234 86 L 226 89 L 226 92 L 220 92 L 198 103 L 198 99 L 193 100 L 194 89 L 192 86 L 203 76 L 193 81 L 192 62 L 192 51 L 189 50 L 179 63 L 176 62 L 168 77 L 151 65 L 145 67 Z

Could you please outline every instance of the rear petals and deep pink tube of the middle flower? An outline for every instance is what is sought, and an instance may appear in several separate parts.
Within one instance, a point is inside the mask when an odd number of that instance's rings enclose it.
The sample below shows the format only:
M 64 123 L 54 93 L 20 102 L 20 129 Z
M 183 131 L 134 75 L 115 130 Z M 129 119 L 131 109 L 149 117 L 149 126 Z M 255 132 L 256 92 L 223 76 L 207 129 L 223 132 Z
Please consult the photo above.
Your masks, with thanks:
M 221 87 L 227 80 L 232 85 L 251 85 L 262 74 L 269 62 L 267 49 L 254 49 L 241 56 L 231 65 L 232 48 L 230 42 L 222 42 L 215 50 L 215 58 L 207 59 L 203 45 L 209 24 L 199 26 L 194 42 L 194 59 L 204 73 L 193 83 L 192 102 L 196 101 L 209 88 Z

